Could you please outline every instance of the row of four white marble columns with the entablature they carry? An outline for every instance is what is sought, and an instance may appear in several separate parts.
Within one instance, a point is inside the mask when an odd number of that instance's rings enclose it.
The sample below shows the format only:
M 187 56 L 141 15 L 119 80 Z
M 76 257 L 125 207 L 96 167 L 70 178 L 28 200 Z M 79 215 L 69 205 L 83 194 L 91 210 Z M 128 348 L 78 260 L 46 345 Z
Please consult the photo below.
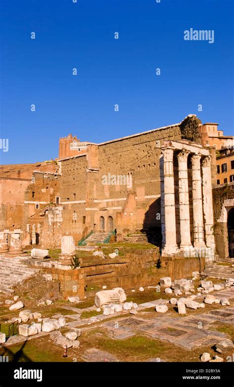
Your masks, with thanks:
M 161 203 L 163 255 L 206 249 L 215 250 L 213 235 L 213 204 L 211 186 L 211 157 L 208 149 L 189 141 L 164 141 L 161 168 Z M 175 156 L 178 181 L 175 181 Z M 192 197 L 189 197 L 188 165 L 192 176 Z M 176 220 L 175 186 L 178 185 L 179 221 Z M 191 230 L 191 211 L 193 227 Z M 204 219 L 204 222 L 203 222 Z M 180 246 L 177 243 L 180 231 Z M 191 242 L 193 235 L 193 245 Z M 209 257 L 209 260 L 214 259 Z

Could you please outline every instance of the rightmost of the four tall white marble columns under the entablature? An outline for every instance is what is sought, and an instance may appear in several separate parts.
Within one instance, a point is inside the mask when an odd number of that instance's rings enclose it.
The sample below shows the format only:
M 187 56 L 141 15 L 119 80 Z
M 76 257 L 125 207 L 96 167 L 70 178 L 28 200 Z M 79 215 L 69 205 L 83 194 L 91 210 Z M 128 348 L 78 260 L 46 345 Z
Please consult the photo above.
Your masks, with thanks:
M 210 156 L 206 156 L 201 162 L 202 168 L 202 191 L 203 191 L 203 211 L 205 219 L 205 242 L 206 246 L 215 250 L 215 240 L 213 235 L 213 199 L 211 185 L 211 164 Z

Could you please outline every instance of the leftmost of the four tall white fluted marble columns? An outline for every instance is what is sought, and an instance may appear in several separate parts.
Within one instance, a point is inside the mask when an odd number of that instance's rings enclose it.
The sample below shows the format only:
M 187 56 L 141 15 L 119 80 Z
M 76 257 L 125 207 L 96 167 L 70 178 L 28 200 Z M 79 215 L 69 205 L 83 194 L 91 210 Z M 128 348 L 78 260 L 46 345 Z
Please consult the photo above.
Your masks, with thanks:
M 173 147 L 162 148 L 164 175 L 165 246 L 162 254 L 178 252 L 176 244 L 175 191 L 173 172 Z

